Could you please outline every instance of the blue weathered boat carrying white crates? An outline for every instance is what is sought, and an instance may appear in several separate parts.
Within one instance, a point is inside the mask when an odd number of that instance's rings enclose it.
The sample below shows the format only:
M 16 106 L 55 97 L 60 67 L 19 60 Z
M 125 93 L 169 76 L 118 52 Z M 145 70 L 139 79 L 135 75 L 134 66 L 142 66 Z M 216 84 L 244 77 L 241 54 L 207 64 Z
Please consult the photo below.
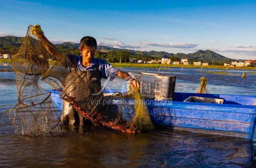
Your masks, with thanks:
M 62 100 L 50 90 L 52 101 L 62 110 Z M 105 93 L 126 92 L 105 90 Z M 183 102 L 189 96 L 223 99 L 223 104 Z M 222 136 L 253 138 L 256 96 L 175 92 L 173 101 L 147 100 L 154 125 Z

